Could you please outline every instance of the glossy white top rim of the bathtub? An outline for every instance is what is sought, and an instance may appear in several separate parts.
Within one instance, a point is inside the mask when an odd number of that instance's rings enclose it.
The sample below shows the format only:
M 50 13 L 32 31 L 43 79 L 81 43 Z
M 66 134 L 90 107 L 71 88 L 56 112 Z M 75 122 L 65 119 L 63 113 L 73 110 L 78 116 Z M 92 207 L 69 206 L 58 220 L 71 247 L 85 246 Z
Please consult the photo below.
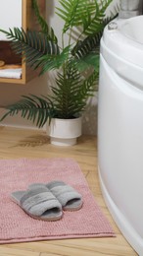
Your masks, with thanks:
M 139 17 L 143 19 L 143 15 Z M 127 23 L 131 23 L 133 19 L 135 20 L 137 18 L 130 18 L 127 19 L 127 21 L 116 18 L 112 22 L 117 24 L 117 29 L 109 30 L 109 25 L 107 25 L 103 32 L 102 39 L 106 47 L 113 53 L 118 54 L 120 58 L 143 68 L 143 43 L 141 44 L 126 36 L 122 30 L 122 28 Z

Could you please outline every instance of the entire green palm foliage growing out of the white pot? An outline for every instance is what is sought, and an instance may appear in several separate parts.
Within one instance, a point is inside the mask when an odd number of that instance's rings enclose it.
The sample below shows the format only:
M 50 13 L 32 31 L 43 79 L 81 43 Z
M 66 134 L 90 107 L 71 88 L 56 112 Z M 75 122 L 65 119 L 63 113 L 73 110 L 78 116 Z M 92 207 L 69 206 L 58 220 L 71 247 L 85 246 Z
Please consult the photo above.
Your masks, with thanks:
M 12 47 L 22 54 L 30 68 L 39 75 L 57 70 L 55 85 L 48 96 L 22 96 L 14 104 L 4 106 L 8 115 L 21 113 L 37 127 L 51 125 L 53 118 L 74 120 L 85 110 L 86 101 L 93 96 L 99 73 L 99 42 L 107 22 L 105 11 L 113 0 L 59 0 L 56 14 L 64 21 L 62 45 L 52 28 L 40 15 L 36 0 L 33 9 L 40 31 L 14 28 L 3 31 L 12 41 Z M 74 31 L 76 29 L 76 32 Z M 68 43 L 65 35 L 68 34 Z M 72 41 L 72 37 L 74 40 Z

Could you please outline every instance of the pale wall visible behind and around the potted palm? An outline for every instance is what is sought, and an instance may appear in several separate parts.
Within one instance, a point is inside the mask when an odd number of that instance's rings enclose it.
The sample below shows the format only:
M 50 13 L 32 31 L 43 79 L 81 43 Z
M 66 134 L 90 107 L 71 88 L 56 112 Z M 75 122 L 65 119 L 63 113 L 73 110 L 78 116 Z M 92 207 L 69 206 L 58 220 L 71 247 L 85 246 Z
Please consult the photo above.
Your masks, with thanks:
M 54 28 L 59 40 L 61 40 L 61 30 L 63 23 L 61 19 L 55 14 L 55 3 L 56 5 L 59 1 L 48 0 L 47 2 L 47 17 L 49 23 Z M 119 3 L 119 0 L 115 0 L 112 4 L 114 8 L 115 4 Z M 16 102 L 23 95 L 33 94 L 33 95 L 44 95 L 48 92 L 48 85 L 50 83 L 49 75 L 46 74 L 43 77 L 38 77 L 23 85 L 15 84 L 0 84 L 0 106 L 11 104 Z M 0 109 L 0 116 L 3 113 L 3 109 Z M 97 123 L 97 95 L 89 99 L 89 104 L 87 105 L 87 110 L 83 116 L 83 133 L 84 134 L 96 134 L 96 123 Z M 12 117 L 7 118 L 3 121 L 2 124 L 5 125 L 14 125 L 14 126 L 25 126 L 33 127 L 31 122 L 26 121 L 25 119 Z

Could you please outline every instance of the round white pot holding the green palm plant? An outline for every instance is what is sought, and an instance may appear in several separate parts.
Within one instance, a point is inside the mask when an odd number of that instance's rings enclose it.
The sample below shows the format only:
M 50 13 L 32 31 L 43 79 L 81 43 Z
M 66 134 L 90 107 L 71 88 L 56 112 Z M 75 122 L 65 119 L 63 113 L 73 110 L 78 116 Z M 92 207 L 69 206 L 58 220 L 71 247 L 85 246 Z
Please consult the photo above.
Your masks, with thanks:
M 81 135 L 81 117 L 73 119 L 52 118 L 47 124 L 47 134 L 50 142 L 57 146 L 72 146 Z

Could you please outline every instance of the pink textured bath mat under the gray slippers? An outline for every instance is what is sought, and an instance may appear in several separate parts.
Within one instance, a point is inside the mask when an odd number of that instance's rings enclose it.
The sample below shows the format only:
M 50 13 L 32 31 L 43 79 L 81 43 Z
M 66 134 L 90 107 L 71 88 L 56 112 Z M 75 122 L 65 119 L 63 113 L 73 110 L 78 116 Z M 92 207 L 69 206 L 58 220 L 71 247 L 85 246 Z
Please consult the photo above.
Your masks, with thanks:
M 82 208 L 64 212 L 60 221 L 43 222 L 27 216 L 10 198 L 13 191 L 26 190 L 31 183 L 52 180 L 63 180 L 73 186 L 83 197 Z M 115 234 L 76 161 L 0 160 L 0 243 L 101 236 Z

